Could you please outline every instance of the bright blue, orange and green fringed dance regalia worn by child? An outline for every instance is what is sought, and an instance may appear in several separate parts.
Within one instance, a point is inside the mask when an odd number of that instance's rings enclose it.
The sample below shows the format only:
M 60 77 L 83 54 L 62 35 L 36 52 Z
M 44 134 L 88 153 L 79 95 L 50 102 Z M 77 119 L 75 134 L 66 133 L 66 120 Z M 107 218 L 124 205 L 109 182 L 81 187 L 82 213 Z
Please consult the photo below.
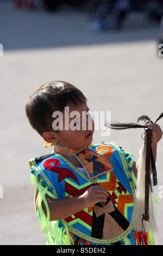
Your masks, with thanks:
M 101 156 L 100 160 L 97 155 Z M 133 229 L 136 183 L 133 155 L 115 143 L 108 143 L 90 145 L 79 150 L 76 157 L 87 175 L 55 151 L 29 161 L 32 182 L 39 190 L 36 213 L 47 245 L 153 245 L 151 230 L 143 233 Z M 49 222 L 46 194 L 56 200 L 71 198 L 97 185 L 109 191 L 106 203 L 100 202 L 64 220 Z M 42 200 L 47 216 L 42 210 Z

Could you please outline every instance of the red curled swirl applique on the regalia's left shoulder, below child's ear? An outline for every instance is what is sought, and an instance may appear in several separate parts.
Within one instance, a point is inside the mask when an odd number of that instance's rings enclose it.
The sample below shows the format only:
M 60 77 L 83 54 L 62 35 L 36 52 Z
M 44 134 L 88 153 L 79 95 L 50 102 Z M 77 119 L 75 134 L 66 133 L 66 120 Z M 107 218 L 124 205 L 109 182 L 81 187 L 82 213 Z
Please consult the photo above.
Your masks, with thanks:
M 57 166 L 60 165 L 60 161 L 57 159 L 54 159 L 54 158 L 47 159 L 43 163 L 43 167 L 46 168 L 47 170 L 51 170 L 54 173 L 59 173 L 58 182 L 60 182 L 61 180 L 64 180 L 65 178 L 72 178 L 79 184 L 79 181 L 76 175 L 74 175 L 74 173 L 71 170 L 67 168 L 55 167 L 55 163 L 57 163 Z

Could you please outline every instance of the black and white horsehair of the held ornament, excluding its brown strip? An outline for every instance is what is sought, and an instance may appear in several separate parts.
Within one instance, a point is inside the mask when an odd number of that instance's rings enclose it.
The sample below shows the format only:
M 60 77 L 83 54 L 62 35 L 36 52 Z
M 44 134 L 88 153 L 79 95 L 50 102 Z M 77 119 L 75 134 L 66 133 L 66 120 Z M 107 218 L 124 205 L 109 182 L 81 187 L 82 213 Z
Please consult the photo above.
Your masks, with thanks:
M 163 117 L 163 112 L 159 115 L 158 119 L 156 119 L 155 123 Z M 142 115 L 137 119 L 139 121 L 151 121 L 147 115 Z M 147 125 L 140 125 L 135 123 L 106 123 L 105 126 L 114 129 L 114 130 L 124 130 L 124 129 L 136 129 L 136 128 L 144 128 L 147 129 Z M 154 207 L 153 207 L 153 199 L 151 193 L 153 191 L 152 186 L 158 185 L 157 175 L 156 175 L 156 167 L 155 161 L 151 151 L 151 166 L 152 166 L 152 175 L 153 182 L 151 179 L 149 180 L 150 190 L 149 190 L 149 221 L 143 222 L 143 216 L 145 216 L 145 180 L 146 180 L 146 130 L 145 130 L 145 138 L 144 143 L 139 151 L 139 166 L 137 170 L 137 185 L 135 189 L 135 205 L 134 205 L 134 229 L 138 232 L 142 231 L 143 233 L 149 231 L 149 225 L 153 231 L 158 231 L 156 227 Z

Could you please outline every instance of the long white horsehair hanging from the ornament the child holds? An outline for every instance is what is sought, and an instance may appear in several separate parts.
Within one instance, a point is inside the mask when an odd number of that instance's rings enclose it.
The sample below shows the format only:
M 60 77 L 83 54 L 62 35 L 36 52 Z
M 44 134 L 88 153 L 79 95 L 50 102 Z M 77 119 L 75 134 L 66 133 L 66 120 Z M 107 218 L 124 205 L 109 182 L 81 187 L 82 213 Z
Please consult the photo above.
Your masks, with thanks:
M 134 229 L 143 231 L 142 215 L 145 214 L 145 174 L 146 174 L 146 145 L 143 144 L 139 151 L 139 167 L 137 170 L 137 186 L 135 190 L 135 206 L 134 206 Z M 147 221 L 143 221 L 145 231 L 149 231 L 149 226 L 152 231 L 157 231 L 155 214 L 153 208 L 153 199 L 149 194 L 149 225 Z

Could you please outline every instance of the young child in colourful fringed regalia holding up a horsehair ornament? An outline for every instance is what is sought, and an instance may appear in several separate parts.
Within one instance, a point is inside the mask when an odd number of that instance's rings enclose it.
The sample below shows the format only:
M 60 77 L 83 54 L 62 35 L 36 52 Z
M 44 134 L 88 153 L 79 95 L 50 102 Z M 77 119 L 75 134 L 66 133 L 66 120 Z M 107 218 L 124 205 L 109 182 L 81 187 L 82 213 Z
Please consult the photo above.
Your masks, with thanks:
M 62 81 L 41 84 L 27 100 L 26 114 L 46 147 L 54 145 L 52 154 L 29 161 L 47 244 L 152 244 L 152 235 L 133 229 L 138 162 L 115 143 L 91 144 L 94 123 L 83 93 Z M 156 159 L 162 131 L 156 124 L 151 129 Z

